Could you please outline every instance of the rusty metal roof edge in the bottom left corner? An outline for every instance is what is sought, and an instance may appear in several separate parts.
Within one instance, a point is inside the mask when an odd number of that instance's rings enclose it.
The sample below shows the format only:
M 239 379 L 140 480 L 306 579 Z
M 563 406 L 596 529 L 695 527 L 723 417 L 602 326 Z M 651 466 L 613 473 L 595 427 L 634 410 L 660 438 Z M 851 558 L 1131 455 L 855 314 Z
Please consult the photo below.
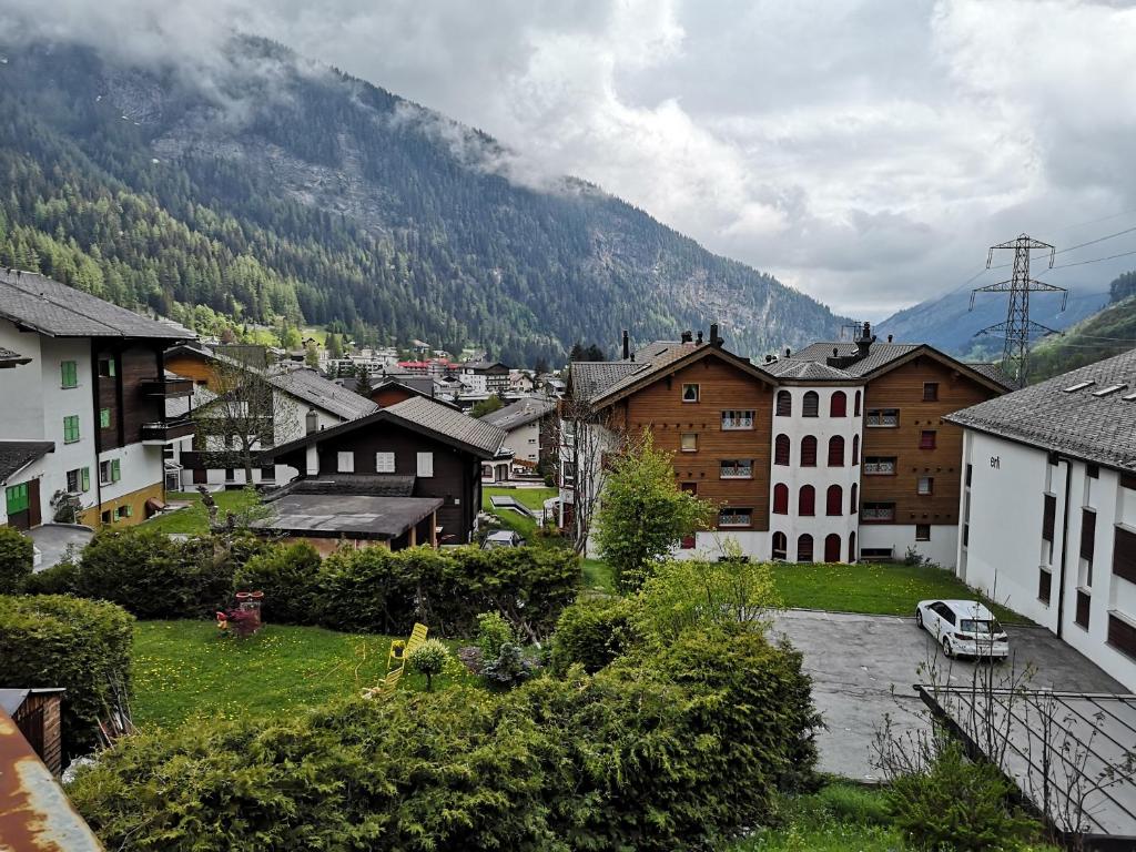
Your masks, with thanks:
M 0 849 L 103 852 L 90 826 L 3 710 L 0 710 Z

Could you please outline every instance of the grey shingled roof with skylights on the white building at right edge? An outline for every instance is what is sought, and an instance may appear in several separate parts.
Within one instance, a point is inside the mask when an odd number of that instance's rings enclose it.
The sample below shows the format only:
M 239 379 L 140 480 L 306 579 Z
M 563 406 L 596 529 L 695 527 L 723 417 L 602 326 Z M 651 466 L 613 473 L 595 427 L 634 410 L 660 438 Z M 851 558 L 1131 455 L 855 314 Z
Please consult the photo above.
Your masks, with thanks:
M 1136 349 L 945 419 L 1042 450 L 1136 470 Z

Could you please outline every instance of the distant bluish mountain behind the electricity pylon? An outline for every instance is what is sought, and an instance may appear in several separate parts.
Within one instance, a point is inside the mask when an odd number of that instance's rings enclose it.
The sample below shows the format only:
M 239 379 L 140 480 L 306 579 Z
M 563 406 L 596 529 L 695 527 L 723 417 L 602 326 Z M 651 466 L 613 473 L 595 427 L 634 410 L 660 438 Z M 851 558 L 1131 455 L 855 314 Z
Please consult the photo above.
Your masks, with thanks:
M 877 323 L 876 333 L 891 334 L 896 340 L 922 341 L 953 356 L 972 359 L 1000 357 L 1002 339 L 975 335 L 1005 319 L 1006 298 L 1005 293 L 978 293 L 971 310 L 969 290 L 947 293 Z M 1029 301 L 1029 316 L 1035 323 L 1061 331 L 1092 316 L 1108 301 L 1106 292 L 1086 292 L 1085 287 L 1074 287 L 1062 311 L 1060 294 L 1039 293 Z

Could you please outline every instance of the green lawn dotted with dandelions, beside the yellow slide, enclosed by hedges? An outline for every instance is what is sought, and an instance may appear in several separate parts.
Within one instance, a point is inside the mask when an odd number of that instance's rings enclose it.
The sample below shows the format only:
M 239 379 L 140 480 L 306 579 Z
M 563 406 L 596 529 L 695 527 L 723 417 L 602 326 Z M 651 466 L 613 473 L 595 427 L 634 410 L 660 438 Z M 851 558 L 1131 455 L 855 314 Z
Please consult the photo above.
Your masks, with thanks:
M 403 637 L 404 638 L 404 637 Z M 445 643 L 456 651 L 458 642 Z M 390 636 L 336 633 L 320 627 L 268 625 L 256 636 L 219 635 L 211 621 L 139 621 L 134 634 L 137 725 L 190 719 L 284 717 L 375 686 L 386 674 Z M 434 688 L 477 683 L 454 658 L 453 674 Z M 425 690 L 409 669 L 400 690 Z

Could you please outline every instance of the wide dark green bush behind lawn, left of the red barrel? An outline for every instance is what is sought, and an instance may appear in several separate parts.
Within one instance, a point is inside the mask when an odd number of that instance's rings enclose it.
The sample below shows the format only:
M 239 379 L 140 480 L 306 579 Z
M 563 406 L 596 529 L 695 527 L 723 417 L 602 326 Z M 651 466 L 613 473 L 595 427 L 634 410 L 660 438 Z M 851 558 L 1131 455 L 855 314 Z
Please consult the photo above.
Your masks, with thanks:
M 232 569 L 208 540 L 175 542 L 145 528 L 106 529 L 83 550 L 76 591 L 139 618 L 202 618 L 229 603 Z

